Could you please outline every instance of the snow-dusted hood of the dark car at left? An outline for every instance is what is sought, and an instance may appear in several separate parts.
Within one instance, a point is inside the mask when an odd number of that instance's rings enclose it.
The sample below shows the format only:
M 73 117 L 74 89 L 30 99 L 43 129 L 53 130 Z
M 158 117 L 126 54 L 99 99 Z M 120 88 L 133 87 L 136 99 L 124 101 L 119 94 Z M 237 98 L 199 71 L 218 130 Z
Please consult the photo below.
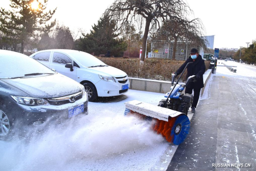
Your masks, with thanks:
M 67 96 L 82 90 L 81 84 L 60 73 L 47 76 L 1 80 L 27 93 L 29 97 L 35 98 Z

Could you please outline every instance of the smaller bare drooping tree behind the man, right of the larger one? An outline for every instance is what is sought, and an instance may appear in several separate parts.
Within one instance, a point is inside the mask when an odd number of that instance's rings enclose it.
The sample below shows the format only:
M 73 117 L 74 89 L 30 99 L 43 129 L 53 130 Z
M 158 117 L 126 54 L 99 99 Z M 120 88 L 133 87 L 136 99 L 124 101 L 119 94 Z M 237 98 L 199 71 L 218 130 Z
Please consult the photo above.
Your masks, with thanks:
M 163 23 L 158 32 L 154 33 L 155 48 L 161 48 L 165 42 L 173 42 L 172 59 L 175 60 L 177 41 L 193 42 L 197 46 L 207 49 L 207 40 L 204 38 L 204 26 L 199 18 L 193 20 L 177 20 L 171 18 Z

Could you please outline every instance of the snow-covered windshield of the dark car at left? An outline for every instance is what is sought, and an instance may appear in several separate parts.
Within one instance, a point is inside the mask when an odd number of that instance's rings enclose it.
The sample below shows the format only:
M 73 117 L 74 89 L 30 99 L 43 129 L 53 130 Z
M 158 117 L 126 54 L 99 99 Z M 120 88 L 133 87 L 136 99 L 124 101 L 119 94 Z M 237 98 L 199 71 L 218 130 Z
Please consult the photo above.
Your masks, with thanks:
M 52 75 L 54 71 L 26 55 L 0 50 L 0 78 L 23 78 Z

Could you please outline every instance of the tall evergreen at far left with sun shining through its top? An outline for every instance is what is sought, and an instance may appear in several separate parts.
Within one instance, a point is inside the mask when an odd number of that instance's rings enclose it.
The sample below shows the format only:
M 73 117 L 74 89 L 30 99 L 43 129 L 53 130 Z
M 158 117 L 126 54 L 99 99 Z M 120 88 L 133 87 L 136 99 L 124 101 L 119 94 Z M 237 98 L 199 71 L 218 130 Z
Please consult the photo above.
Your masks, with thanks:
M 34 9 L 32 0 L 10 1 L 12 10 L 0 9 L 0 31 L 12 41 L 15 38 L 15 42 L 20 43 L 20 52 L 23 53 L 24 44 L 35 36 L 36 31 L 46 31 L 55 25 L 55 21 L 46 23 L 52 18 L 56 9 L 45 12 L 48 0 L 43 2 L 34 0 L 34 3 L 38 3 L 38 8 Z

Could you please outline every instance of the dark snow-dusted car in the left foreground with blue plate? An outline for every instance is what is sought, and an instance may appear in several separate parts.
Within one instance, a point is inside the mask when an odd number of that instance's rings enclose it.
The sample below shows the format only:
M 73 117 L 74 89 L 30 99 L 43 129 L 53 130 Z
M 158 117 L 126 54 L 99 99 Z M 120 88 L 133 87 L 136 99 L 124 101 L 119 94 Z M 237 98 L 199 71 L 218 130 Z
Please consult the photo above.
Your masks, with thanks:
M 44 125 L 88 114 L 88 97 L 76 81 L 21 53 L 0 50 L 0 137 L 17 125 Z

